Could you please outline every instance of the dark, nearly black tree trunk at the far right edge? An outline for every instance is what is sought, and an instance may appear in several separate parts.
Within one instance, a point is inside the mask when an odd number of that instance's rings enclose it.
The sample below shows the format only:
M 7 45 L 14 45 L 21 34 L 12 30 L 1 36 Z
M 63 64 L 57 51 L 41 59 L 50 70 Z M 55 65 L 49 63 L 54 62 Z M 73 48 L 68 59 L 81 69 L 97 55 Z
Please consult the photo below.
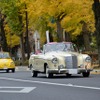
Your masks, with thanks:
M 94 0 L 93 11 L 95 15 L 96 40 L 98 46 L 98 60 L 99 60 L 99 67 L 100 67 L 100 2 L 99 0 Z

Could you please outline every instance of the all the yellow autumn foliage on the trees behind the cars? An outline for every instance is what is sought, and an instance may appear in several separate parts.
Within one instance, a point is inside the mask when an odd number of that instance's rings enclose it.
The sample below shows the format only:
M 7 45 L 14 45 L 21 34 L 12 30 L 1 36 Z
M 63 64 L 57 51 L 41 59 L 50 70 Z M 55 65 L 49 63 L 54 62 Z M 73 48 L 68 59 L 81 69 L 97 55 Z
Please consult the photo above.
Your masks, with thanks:
M 92 11 L 93 0 L 15 0 L 16 6 L 20 7 L 25 26 L 25 11 L 28 12 L 29 29 L 38 30 L 41 41 L 45 42 L 45 31 L 47 27 L 57 30 L 56 21 L 61 19 L 61 26 L 73 36 L 77 36 L 82 31 L 81 21 L 88 25 L 88 30 L 93 32 L 94 15 Z M 25 9 L 25 4 L 27 9 Z M 64 17 L 63 17 L 64 16 Z M 53 20 L 53 22 L 51 21 Z M 6 27 L 7 28 L 7 27 Z M 25 29 L 23 29 L 25 32 Z M 6 29 L 6 31 L 9 31 Z M 10 32 L 8 32 L 10 33 Z M 10 35 L 7 36 L 10 40 Z M 13 36 L 12 38 L 15 38 Z M 18 44 L 18 38 L 12 39 Z M 14 41 L 16 40 L 16 41 Z M 11 42 L 7 41 L 8 45 Z M 13 46 L 12 46 L 13 47 Z

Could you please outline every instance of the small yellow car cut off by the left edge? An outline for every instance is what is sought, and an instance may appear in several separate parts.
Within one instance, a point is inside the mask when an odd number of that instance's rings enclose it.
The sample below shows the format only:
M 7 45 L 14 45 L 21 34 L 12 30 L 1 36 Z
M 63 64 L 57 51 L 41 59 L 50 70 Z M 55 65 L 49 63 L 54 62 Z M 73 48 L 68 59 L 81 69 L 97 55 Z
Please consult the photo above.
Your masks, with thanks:
M 15 63 L 8 52 L 0 52 L 0 70 L 6 70 L 7 73 L 9 70 L 15 72 Z

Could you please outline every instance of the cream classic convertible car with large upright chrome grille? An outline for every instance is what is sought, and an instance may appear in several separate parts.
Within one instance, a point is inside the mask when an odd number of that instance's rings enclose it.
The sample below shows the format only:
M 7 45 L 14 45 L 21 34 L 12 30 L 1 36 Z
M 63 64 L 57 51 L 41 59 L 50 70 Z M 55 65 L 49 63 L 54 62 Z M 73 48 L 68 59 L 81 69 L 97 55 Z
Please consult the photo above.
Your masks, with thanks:
M 71 42 L 45 44 L 42 53 L 30 56 L 29 67 L 32 77 L 37 77 L 38 73 L 45 73 L 46 77 L 53 77 L 54 74 L 82 74 L 89 77 L 92 71 L 91 57 L 79 53 Z

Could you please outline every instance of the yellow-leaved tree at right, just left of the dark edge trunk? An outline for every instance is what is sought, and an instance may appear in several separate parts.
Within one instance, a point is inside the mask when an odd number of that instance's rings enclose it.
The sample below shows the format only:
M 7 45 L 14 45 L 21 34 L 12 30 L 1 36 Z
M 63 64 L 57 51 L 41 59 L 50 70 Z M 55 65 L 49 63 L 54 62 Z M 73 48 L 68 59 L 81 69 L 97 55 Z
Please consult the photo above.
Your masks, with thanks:
M 78 41 L 78 37 L 83 36 L 82 45 L 85 46 L 85 50 L 90 51 L 90 36 L 94 32 L 94 16 L 91 7 L 93 2 L 91 0 L 73 1 L 75 2 L 78 7 L 63 19 L 62 26 L 70 33 L 72 41 Z

